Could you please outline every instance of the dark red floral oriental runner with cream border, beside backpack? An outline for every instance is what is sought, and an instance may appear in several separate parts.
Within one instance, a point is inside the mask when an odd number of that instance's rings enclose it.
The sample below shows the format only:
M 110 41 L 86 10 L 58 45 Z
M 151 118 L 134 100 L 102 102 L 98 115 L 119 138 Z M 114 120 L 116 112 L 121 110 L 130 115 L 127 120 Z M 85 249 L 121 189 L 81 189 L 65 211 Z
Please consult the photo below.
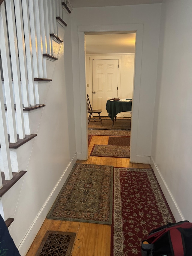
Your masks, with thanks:
M 152 169 L 114 168 L 111 256 L 141 256 L 148 233 L 175 222 Z

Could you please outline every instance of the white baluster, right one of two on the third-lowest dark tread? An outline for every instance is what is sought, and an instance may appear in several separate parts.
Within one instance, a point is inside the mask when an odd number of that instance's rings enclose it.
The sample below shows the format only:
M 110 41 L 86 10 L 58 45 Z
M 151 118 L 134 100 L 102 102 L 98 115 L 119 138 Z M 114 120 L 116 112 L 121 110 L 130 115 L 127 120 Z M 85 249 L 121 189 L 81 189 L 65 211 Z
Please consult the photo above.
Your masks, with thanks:
M 11 65 L 13 72 L 13 86 L 15 92 L 15 104 L 17 113 L 17 128 L 19 138 L 25 138 L 24 118 L 23 118 L 23 107 L 22 107 L 22 95 L 21 95 L 21 81 L 19 74 L 19 57 L 17 50 L 16 40 L 16 27 L 15 27 L 15 14 L 14 14 L 14 3 L 13 0 L 6 0 L 6 11 L 7 11 L 7 24 L 9 30 L 9 43 L 11 53 Z M 24 67 L 21 67 L 24 68 Z

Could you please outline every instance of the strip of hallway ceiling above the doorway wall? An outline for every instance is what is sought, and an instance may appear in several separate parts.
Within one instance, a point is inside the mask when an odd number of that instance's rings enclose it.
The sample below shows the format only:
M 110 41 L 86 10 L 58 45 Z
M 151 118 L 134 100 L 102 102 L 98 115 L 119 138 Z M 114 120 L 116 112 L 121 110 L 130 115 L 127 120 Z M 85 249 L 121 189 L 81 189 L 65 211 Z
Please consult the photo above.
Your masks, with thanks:
M 162 3 L 163 0 L 69 0 L 73 8 L 143 5 Z

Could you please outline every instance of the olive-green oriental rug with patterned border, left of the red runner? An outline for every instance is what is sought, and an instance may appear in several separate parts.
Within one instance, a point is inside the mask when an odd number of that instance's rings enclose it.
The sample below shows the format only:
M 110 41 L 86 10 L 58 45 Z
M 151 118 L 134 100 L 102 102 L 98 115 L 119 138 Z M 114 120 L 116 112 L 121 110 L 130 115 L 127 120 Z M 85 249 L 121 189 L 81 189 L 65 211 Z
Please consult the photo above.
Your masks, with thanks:
M 75 164 L 47 218 L 112 224 L 113 166 Z

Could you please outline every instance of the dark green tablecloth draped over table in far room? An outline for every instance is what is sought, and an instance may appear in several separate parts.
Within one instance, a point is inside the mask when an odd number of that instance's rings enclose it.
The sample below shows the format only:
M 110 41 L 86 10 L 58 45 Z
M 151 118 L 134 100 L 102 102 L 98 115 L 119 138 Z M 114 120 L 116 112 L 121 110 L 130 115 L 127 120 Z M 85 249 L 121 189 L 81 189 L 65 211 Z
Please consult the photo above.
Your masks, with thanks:
M 106 110 L 110 119 L 114 119 L 118 113 L 131 111 L 132 101 L 107 101 Z

